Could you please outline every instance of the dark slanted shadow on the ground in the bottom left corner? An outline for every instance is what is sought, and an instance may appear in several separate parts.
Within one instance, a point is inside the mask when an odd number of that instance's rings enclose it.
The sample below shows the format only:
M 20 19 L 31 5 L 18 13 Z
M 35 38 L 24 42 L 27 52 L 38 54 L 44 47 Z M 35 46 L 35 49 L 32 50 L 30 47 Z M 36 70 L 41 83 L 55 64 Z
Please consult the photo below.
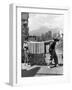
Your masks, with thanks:
M 35 76 L 36 73 L 38 72 L 38 70 L 40 69 L 40 67 L 35 67 L 31 70 L 22 70 L 21 71 L 21 76 L 22 77 L 32 77 L 32 76 Z

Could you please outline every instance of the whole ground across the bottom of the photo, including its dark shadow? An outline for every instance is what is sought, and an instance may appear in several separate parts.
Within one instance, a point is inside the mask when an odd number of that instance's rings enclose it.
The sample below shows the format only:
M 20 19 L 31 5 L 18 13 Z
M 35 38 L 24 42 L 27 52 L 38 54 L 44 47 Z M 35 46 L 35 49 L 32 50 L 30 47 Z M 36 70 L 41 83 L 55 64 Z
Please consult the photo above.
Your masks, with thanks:
M 43 76 L 43 75 L 63 75 L 63 66 L 48 68 L 48 66 L 34 65 L 28 70 L 22 69 L 22 77 Z

